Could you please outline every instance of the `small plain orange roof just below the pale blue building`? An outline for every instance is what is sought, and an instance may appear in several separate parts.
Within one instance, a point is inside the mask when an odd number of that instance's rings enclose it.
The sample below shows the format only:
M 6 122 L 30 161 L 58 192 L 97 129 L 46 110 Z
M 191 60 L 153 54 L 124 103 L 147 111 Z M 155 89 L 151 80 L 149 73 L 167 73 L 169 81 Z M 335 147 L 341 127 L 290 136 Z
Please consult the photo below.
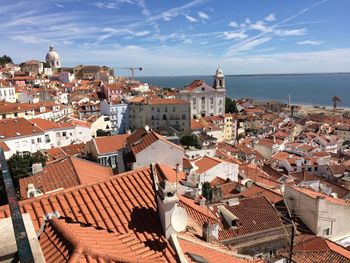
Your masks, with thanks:
M 126 141 L 130 134 L 118 134 L 112 136 L 97 137 L 94 140 L 99 154 L 117 152 L 126 147 Z

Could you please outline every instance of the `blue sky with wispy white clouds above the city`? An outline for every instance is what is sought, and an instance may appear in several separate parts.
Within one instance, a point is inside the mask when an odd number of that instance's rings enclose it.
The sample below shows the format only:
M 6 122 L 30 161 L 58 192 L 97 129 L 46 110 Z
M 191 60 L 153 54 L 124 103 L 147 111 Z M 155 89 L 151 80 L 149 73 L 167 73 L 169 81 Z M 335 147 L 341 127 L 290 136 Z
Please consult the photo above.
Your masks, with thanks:
M 349 0 L 0 0 L 0 55 L 143 76 L 350 72 Z M 126 75 L 124 70 L 117 74 Z

